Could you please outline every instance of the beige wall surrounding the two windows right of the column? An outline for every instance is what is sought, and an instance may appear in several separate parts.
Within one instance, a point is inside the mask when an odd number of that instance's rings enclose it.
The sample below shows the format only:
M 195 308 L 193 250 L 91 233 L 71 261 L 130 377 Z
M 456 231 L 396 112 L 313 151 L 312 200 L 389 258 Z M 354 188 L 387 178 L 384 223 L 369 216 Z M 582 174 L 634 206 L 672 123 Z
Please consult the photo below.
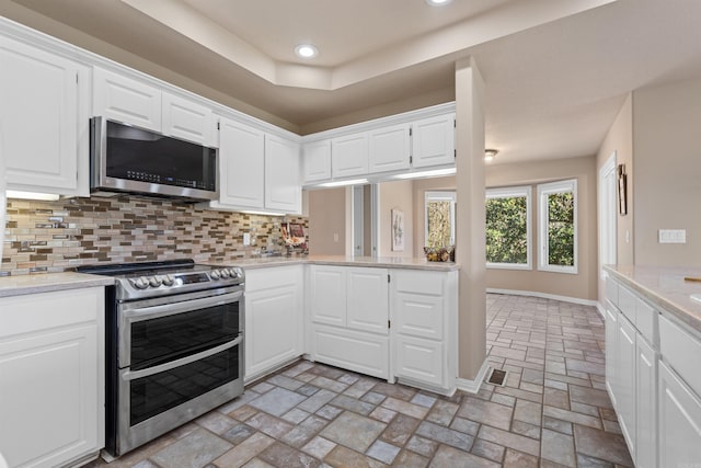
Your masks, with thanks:
M 531 194 L 531 264 L 530 271 L 487 269 L 489 288 L 539 292 L 585 300 L 597 299 L 597 167 L 596 157 L 494 164 L 486 168 L 486 186 L 535 185 L 541 182 L 577 179 L 578 273 L 538 271 L 537 191 Z M 461 210 L 460 210 L 461 213 Z

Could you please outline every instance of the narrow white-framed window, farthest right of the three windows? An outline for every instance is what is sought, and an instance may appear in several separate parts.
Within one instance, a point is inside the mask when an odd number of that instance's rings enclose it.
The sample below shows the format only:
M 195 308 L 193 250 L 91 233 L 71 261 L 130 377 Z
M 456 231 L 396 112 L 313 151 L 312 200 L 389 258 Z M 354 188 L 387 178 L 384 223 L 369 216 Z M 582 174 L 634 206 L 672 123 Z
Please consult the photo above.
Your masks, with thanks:
M 577 273 L 577 181 L 538 185 L 538 269 Z

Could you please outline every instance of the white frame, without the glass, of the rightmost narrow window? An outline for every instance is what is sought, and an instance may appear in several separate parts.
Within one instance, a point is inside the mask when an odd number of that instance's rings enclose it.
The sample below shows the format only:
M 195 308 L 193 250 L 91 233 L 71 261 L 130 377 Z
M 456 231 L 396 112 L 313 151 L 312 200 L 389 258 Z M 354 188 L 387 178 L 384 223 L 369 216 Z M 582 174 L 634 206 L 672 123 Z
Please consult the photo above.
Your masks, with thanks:
M 548 263 L 549 259 L 549 207 L 548 196 L 556 193 L 572 192 L 574 203 L 574 265 L 551 265 Z M 579 226 L 578 226 L 578 196 L 577 196 L 577 180 L 568 179 L 565 181 L 550 182 L 538 185 L 538 270 L 542 272 L 553 273 L 567 273 L 576 275 L 579 269 Z

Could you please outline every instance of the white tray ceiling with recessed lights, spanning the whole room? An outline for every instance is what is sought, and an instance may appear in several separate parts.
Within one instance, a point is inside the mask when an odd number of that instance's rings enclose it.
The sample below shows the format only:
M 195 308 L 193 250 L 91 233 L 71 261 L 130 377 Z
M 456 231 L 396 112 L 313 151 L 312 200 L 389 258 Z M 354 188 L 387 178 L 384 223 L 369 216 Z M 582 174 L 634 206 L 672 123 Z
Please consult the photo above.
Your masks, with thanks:
M 593 155 L 628 92 L 701 77 L 699 0 L 0 0 L 60 33 L 22 9 L 302 134 L 450 101 L 471 55 L 497 163 Z M 318 58 L 294 55 L 304 41 Z

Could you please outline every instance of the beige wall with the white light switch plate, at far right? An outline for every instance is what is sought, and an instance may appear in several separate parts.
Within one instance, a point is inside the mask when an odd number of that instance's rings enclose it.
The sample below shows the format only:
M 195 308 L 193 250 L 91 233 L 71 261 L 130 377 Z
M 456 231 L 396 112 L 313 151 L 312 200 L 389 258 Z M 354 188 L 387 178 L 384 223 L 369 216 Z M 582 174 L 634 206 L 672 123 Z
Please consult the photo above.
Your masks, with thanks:
M 701 263 L 701 80 L 633 93 L 635 264 Z M 660 244 L 658 229 L 686 229 L 686 244 Z

